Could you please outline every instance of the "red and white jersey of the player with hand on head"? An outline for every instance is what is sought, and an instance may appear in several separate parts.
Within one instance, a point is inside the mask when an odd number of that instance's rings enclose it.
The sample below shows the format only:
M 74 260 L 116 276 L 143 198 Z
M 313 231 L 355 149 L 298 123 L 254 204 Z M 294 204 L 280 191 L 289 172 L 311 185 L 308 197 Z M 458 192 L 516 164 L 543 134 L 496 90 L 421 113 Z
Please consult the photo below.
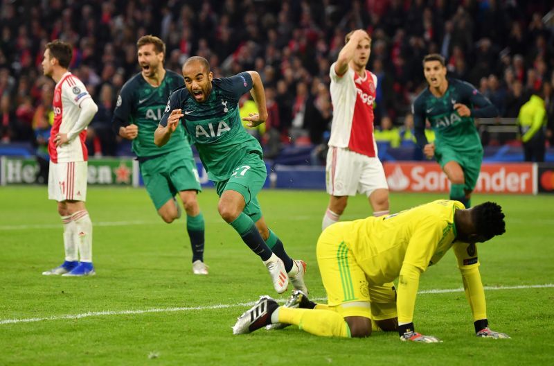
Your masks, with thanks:
M 377 157 L 377 144 L 373 137 L 377 76 L 366 70 L 366 76 L 362 78 L 350 67 L 343 76 L 338 76 L 334 71 L 335 64 L 331 65 L 329 72 L 333 104 L 329 146 L 349 148 L 368 157 Z

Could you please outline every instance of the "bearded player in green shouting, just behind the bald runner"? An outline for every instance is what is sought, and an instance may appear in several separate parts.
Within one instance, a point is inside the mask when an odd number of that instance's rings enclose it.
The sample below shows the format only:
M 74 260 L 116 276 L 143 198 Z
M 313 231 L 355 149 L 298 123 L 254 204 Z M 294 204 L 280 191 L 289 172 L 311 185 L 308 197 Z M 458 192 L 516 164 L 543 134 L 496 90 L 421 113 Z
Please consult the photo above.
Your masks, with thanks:
M 196 162 L 184 129 L 177 126 L 165 146 L 154 144 L 154 130 L 171 92 L 183 85 L 183 78 L 163 68 L 166 44 L 145 35 L 136 42 L 142 71 L 123 85 L 114 110 L 116 133 L 133 141 L 146 191 L 159 216 L 166 222 L 181 216 L 175 195 L 186 211 L 186 229 L 193 250 L 193 273 L 208 275 L 204 263 L 204 216 L 198 206 L 200 187 Z

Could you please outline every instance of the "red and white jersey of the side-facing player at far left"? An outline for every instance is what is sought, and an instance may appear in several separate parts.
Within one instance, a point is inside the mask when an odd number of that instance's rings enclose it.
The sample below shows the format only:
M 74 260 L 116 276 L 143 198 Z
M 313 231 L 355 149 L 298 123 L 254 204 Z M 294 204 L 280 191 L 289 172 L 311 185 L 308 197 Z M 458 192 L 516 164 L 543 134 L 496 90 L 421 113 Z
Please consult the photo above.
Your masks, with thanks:
M 85 128 L 73 141 L 55 146 L 57 133 L 71 131 L 81 112 L 80 104 L 84 99 L 91 98 L 84 84 L 70 72 L 64 73 L 54 89 L 54 124 L 48 140 L 48 153 L 53 163 L 86 162 L 88 159 L 87 146 L 84 139 L 87 137 Z

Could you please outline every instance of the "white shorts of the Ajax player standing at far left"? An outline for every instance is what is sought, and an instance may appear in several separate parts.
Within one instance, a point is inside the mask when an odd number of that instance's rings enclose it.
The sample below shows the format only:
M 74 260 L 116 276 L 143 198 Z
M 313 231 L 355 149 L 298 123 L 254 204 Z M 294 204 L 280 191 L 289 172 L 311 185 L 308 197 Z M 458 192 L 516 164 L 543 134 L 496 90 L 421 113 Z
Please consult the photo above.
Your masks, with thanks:
M 87 162 L 53 163 L 48 171 L 48 200 L 87 200 Z

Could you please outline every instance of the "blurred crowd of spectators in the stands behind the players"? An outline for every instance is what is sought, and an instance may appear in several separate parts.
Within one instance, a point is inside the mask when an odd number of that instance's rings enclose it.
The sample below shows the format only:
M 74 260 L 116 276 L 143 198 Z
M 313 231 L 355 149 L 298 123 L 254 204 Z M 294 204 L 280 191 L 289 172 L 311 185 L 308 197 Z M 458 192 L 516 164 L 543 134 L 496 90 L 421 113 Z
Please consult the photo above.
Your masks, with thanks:
M 422 58 L 440 53 L 449 76 L 478 87 L 502 117 L 516 118 L 540 94 L 554 146 L 553 10 L 551 1 L 516 0 L 1 0 L 0 139 L 44 147 L 54 82 L 40 62 L 44 45 L 60 39 L 73 44 L 70 70 L 99 107 L 89 153 L 120 154 L 111 116 L 139 72 L 136 40 L 152 34 L 166 42 L 166 69 L 180 72 L 200 55 L 214 77 L 260 73 L 269 120 L 252 133 L 268 157 L 283 144 L 321 146 L 332 120 L 330 65 L 346 33 L 363 28 L 373 38 L 377 138 L 413 143 L 411 102 L 427 86 Z M 252 103 L 244 96 L 241 113 Z

